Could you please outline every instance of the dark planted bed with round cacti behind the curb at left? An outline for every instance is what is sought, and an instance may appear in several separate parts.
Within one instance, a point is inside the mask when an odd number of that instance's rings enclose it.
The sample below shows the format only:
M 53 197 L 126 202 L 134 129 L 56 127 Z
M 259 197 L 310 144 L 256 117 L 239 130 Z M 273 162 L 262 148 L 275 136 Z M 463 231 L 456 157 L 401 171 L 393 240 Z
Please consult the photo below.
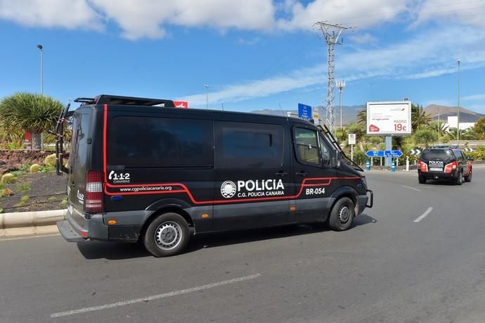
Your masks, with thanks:
M 3 189 L 10 189 L 12 193 L 10 196 L 0 197 L 0 209 L 3 213 L 67 208 L 65 174 L 58 176 L 54 171 L 13 174 L 17 181 L 3 184 Z

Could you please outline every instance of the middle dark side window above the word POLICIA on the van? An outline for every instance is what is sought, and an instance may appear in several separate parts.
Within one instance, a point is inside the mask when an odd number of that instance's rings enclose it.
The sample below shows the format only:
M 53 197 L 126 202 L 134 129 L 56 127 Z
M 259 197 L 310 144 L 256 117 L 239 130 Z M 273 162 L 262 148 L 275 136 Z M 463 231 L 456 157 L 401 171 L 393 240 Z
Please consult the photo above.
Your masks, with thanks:
M 217 168 L 283 165 L 283 127 L 247 122 L 214 122 Z

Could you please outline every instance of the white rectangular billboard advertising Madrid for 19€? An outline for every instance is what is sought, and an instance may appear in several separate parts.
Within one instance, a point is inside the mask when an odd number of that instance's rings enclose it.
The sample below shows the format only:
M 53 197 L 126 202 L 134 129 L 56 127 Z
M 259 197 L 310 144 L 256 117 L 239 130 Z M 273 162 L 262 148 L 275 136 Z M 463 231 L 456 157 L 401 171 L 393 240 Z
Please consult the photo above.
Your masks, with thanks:
M 368 102 L 368 136 L 406 136 L 411 134 L 411 102 Z

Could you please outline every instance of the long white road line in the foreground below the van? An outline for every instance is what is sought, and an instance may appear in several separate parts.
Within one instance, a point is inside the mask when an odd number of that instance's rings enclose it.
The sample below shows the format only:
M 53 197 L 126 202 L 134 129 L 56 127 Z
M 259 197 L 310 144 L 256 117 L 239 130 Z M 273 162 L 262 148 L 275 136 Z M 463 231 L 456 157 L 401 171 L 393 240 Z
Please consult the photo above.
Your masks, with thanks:
M 212 289 L 213 287 L 224 286 L 228 284 L 238 283 L 240 281 L 246 281 L 250 279 L 254 279 L 261 276 L 261 274 L 252 274 L 245 277 L 233 278 L 229 280 L 219 281 L 218 283 L 202 285 L 198 287 L 193 287 L 191 289 L 182 289 L 180 291 L 171 291 L 169 293 L 157 294 L 153 296 L 147 296 L 143 298 L 135 298 L 132 300 L 123 300 L 117 303 L 105 304 L 105 305 L 98 305 L 98 306 L 91 306 L 90 308 L 80 308 L 79 310 L 68 310 L 66 312 L 57 312 L 51 314 L 51 317 L 64 317 L 67 315 L 75 315 L 79 313 L 86 313 L 86 312 L 93 312 L 96 310 L 106 310 L 108 308 L 119 308 L 120 306 L 131 305 L 136 303 L 148 302 L 150 300 L 159 300 L 160 298 L 167 298 L 172 296 L 177 296 L 186 293 L 193 293 L 194 291 L 203 291 L 205 289 Z

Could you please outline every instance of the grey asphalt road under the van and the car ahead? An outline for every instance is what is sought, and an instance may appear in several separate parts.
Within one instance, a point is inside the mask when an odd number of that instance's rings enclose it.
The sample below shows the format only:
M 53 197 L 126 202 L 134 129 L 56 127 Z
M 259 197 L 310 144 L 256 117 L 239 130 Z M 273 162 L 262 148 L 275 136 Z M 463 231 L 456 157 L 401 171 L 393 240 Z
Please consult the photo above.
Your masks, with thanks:
M 485 322 L 485 168 L 462 186 L 367 176 L 375 207 L 347 232 L 199 236 L 172 258 L 0 240 L 0 322 Z

